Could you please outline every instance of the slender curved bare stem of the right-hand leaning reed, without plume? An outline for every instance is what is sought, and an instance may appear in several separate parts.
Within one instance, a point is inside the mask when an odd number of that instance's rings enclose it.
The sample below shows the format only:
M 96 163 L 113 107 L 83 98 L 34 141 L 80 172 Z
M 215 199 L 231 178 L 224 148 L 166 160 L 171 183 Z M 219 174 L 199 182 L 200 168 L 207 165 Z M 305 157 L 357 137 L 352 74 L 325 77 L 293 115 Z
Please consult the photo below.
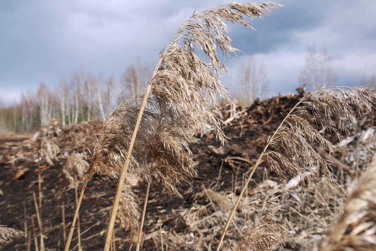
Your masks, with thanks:
M 216 251 L 219 251 L 219 250 L 221 249 L 221 246 L 222 246 L 222 243 L 223 243 L 224 236 L 225 236 L 226 233 L 227 233 L 227 229 L 229 228 L 229 225 L 230 225 L 230 222 L 231 222 L 231 220 L 232 220 L 232 217 L 233 217 L 233 215 L 234 215 L 234 213 L 235 213 L 235 210 L 237 209 L 237 207 L 238 207 L 238 205 L 239 205 L 239 202 L 240 202 L 241 198 L 243 197 L 244 192 L 246 191 L 246 189 L 247 189 L 247 187 L 248 187 L 248 183 L 249 183 L 249 181 L 251 180 L 253 174 L 254 174 L 255 171 L 256 171 L 256 168 L 257 168 L 258 165 L 261 163 L 262 156 L 264 156 L 265 151 L 266 151 L 266 149 L 268 148 L 270 142 L 273 140 L 274 136 L 276 135 L 276 133 L 278 132 L 278 130 L 280 129 L 280 127 L 284 124 L 286 118 L 287 118 L 287 117 L 288 117 L 288 116 L 289 116 L 289 115 L 295 110 L 295 108 L 296 108 L 300 103 L 302 103 L 302 101 L 303 101 L 305 98 L 306 98 L 306 97 L 303 97 L 303 98 L 302 98 L 302 99 L 301 99 L 301 100 L 300 100 L 300 101 L 299 101 L 299 102 L 293 107 L 293 109 L 290 110 L 290 112 L 289 112 L 289 113 L 287 114 L 287 116 L 282 120 L 282 122 L 280 123 L 280 125 L 278 126 L 278 128 L 274 131 L 273 136 L 271 136 L 271 137 L 268 139 L 268 142 L 267 142 L 267 144 L 265 145 L 264 150 L 262 151 L 262 153 L 261 153 L 260 156 L 258 157 L 258 159 L 257 159 L 257 161 L 256 161 L 256 163 L 255 163 L 255 165 L 252 167 L 252 171 L 251 171 L 251 173 L 249 174 L 249 177 L 247 178 L 246 182 L 244 183 L 243 188 L 241 189 L 241 192 L 240 192 L 240 194 L 239 194 L 239 196 L 238 196 L 238 198 L 237 198 L 237 200 L 236 200 L 236 202 L 235 202 L 235 205 L 233 206 L 233 208 L 232 208 L 232 210 L 231 210 L 231 212 L 230 212 L 229 218 L 227 219 L 226 225 L 224 226 L 223 232 L 222 232 L 222 234 L 221 234 L 221 239 L 220 239 L 220 241 L 219 241 L 219 243 L 218 243 L 218 246 L 217 246 Z

